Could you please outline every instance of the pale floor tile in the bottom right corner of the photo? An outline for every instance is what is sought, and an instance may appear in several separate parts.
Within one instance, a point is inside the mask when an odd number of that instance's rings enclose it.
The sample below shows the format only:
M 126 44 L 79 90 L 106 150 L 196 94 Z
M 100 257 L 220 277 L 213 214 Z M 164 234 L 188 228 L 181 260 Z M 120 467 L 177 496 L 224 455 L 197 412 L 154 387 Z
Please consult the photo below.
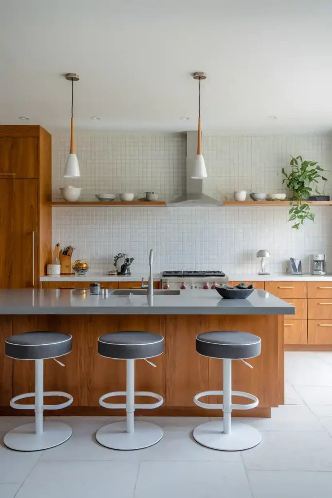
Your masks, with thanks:
M 254 498 L 331 498 L 330 472 L 248 471 Z

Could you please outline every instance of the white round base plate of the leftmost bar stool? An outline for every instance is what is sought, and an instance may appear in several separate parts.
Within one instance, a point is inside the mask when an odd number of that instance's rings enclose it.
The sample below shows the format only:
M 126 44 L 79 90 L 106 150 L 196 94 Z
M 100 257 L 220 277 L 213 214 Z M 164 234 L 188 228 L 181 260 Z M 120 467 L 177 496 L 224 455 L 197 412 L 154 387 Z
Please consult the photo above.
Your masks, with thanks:
M 72 428 L 62 422 L 44 422 L 43 433 L 35 434 L 34 422 L 15 427 L 3 438 L 7 448 L 16 451 L 40 451 L 54 448 L 70 438 Z

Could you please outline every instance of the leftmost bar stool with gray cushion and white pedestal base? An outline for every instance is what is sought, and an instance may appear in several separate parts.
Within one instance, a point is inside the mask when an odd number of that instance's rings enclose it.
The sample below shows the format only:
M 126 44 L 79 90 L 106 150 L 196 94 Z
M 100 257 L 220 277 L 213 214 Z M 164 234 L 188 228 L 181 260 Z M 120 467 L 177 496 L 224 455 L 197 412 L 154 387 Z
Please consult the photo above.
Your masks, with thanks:
M 72 429 L 67 424 L 43 422 L 43 410 L 60 410 L 73 402 L 73 396 L 66 392 L 44 392 L 44 360 L 67 355 L 71 350 L 72 336 L 60 332 L 24 332 L 6 339 L 5 354 L 9 358 L 34 360 L 35 362 L 35 392 L 19 394 L 10 401 L 12 408 L 34 409 L 35 421 L 7 432 L 3 439 L 7 448 L 17 451 L 46 450 L 64 443 L 72 435 Z M 56 405 L 45 405 L 44 396 L 63 396 L 68 398 L 68 401 Z M 35 404 L 16 403 L 19 399 L 29 397 L 35 398 Z

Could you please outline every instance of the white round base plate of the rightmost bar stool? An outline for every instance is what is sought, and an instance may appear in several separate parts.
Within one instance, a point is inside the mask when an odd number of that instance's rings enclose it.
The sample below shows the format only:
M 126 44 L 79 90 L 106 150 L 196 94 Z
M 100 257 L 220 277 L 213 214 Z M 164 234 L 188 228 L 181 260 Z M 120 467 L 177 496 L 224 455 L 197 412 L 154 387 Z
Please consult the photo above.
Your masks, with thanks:
M 251 425 L 231 422 L 231 433 L 223 434 L 223 422 L 208 422 L 194 429 L 193 437 L 202 446 L 221 451 L 242 451 L 257 446 L 260 432 Z

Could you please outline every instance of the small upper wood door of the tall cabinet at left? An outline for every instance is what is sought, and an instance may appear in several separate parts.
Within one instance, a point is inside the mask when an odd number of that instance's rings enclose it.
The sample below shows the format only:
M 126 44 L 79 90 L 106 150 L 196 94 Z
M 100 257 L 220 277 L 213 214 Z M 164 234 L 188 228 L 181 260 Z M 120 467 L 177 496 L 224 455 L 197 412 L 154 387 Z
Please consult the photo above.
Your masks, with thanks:
M 38 138 L 0 137 L 0 178 L 38 178 Z

